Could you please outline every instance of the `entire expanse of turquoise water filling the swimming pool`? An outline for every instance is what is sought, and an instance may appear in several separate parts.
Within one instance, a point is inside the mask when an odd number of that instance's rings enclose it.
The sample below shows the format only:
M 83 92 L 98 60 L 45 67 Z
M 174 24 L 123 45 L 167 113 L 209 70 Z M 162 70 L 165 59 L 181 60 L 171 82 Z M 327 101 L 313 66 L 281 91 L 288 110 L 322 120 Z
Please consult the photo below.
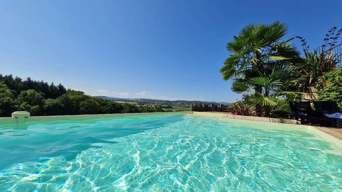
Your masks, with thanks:
M 314 134 L 164 114 L 0 125 L 0 191 L 341 191 Z

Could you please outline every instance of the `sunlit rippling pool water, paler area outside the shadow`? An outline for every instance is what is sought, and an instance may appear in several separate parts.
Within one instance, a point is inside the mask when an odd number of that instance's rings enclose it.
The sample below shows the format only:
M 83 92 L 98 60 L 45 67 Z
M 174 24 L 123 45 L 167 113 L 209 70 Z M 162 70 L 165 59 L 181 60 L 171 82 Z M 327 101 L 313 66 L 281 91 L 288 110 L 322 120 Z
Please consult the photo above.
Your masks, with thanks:
M 106 126 L 108 128 L 108 126 Z M 159 128 L 0 171 L 0 190 L 341 191 L 342 156 L 300 131 L 184 115 Z

